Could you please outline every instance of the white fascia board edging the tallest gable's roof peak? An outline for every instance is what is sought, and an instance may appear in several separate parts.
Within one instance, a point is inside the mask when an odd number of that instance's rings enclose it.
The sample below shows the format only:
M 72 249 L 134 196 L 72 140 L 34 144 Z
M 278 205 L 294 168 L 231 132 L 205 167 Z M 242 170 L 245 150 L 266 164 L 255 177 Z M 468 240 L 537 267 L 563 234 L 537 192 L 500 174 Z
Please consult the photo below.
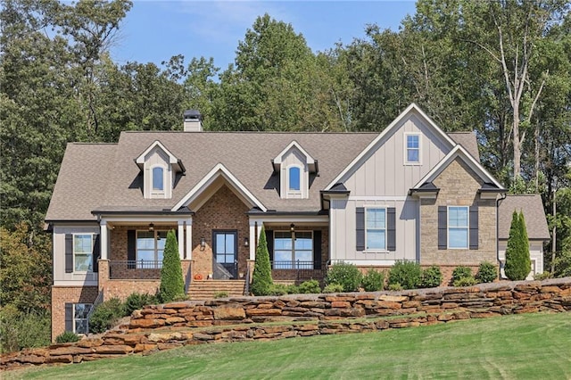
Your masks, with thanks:
M 446 133 L 444 133 L 444 131 L 441 128 L 439 128 L 434 123 L 434 121 L 432 119 L 430 119 L 428 117 L 428 115 L 426 115 L 426 113 L 420 109 L 420 107 L 418 107 L 418 105 L 416 103 L 410 103 L 410 105 L 406 108 L 406 110 L 401 112 L 401 114 L 399 116 L 397 116 L 396 119 L 393 120 L 393 122 L 391 124 L 389 124 L 389 126 L 383 130 L 383 132 L 381 132 L 345 169 L 343 169 L 343 171 L 341 173 L 339 173 L 339 175 L 337 177 L 335 177 L 335 179 L 333 181 L 331 181 L 329 183 L 329 185 L 327 185 L 325 187 L 325 190 L 330 190 L 331 187 L 335 186 L 335 184 L 337 184 L 339 181 L 341 181 L 341 179 L 347 173 L 349 173 L 352 169 L 354 169 L 355 166 L 364 157 L 366 157 L 368 155 L 368 153 L 370 153 L 373 149 L 377 149 L 376 147 L 377 147 L 378 143 L 380 141 L 382 141 L 385 138 L 385 136 L 388 136 L 389 134 L 393 133 L 393 129 L 396 128 L 396 126 L 398 126 L 402 120 L 405 120 L 411 112 L 417 112 L 418 116 L 420 116 L 420 118 L 424 119 L 426 121 L 426 123 L 428 124 L 428 126 L 430 126 L 430 128 L 433 128 L 436 135 L 441 136 L 443 141 L 448 143 L 450 145 L 450 147 L 453 147 L 454 145 L 456 145 L 456 143 L 454 143 L 454 141 L 451 139 L 451 137 L 446 135 Z

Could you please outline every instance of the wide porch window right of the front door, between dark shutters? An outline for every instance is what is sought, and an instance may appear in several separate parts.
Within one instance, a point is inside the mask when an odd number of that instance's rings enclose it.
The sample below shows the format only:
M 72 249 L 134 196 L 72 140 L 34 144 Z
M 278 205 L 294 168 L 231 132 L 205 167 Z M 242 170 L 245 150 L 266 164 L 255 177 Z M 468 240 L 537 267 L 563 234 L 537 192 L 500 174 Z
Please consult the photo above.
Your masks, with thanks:
M 274 234 L 274 269 L 312 269 L 313 233 L 311 231 Z

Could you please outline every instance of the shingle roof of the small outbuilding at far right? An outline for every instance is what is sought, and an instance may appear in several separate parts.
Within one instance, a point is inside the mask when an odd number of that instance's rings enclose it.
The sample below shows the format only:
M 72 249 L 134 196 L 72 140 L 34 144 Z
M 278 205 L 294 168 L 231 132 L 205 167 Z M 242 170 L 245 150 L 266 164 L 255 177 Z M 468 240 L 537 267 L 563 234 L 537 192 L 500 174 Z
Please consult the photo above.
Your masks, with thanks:
M 508 195 L 500 203 L 500 239 L 508 239 L 514 211 L 523 211 L 527 236 L 530 239 L 550 239 L 550 231 L 543 211 L 542 197 L 538 194 Z

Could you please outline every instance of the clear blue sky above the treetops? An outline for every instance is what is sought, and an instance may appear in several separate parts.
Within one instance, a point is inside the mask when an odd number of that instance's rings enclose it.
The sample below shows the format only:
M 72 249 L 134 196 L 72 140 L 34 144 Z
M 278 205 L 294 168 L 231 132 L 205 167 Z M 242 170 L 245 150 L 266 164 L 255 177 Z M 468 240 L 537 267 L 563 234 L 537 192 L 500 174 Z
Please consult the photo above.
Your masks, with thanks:
M 238 41 L 256 17 L 269 13 L 291 23 L 314 52 L 350 44 L 365 36 L 367 24 L 398 30 L 401 20 L 415 12 L 413 1 L 142 1 L 120 25 L 111 54 L 115 62 L 168 61 L 183 54 L 213 57 L 223 70 L 234 62 Z

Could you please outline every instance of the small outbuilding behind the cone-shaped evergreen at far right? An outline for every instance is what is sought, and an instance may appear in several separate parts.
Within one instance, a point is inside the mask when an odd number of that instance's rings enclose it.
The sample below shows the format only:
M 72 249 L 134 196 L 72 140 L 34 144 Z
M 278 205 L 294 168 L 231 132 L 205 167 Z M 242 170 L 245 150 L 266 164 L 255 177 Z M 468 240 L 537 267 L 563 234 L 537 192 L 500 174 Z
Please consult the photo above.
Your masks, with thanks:
M 507 195 L 506 199 L 500 201 L 498 260 L 500 260 L 502 278 L 505 278 L 503 267 L 506 263 L 506 246 L 508 245 L 509 227 L 514 211 L 524 213 L 529 240 L 529 255 L 532 260 L 532 268 L 526 279 L 532 280 L 534 275 L 543 273 L 543 245 L 551 238 L 543 210 L 542 197 L 539 194 Z

